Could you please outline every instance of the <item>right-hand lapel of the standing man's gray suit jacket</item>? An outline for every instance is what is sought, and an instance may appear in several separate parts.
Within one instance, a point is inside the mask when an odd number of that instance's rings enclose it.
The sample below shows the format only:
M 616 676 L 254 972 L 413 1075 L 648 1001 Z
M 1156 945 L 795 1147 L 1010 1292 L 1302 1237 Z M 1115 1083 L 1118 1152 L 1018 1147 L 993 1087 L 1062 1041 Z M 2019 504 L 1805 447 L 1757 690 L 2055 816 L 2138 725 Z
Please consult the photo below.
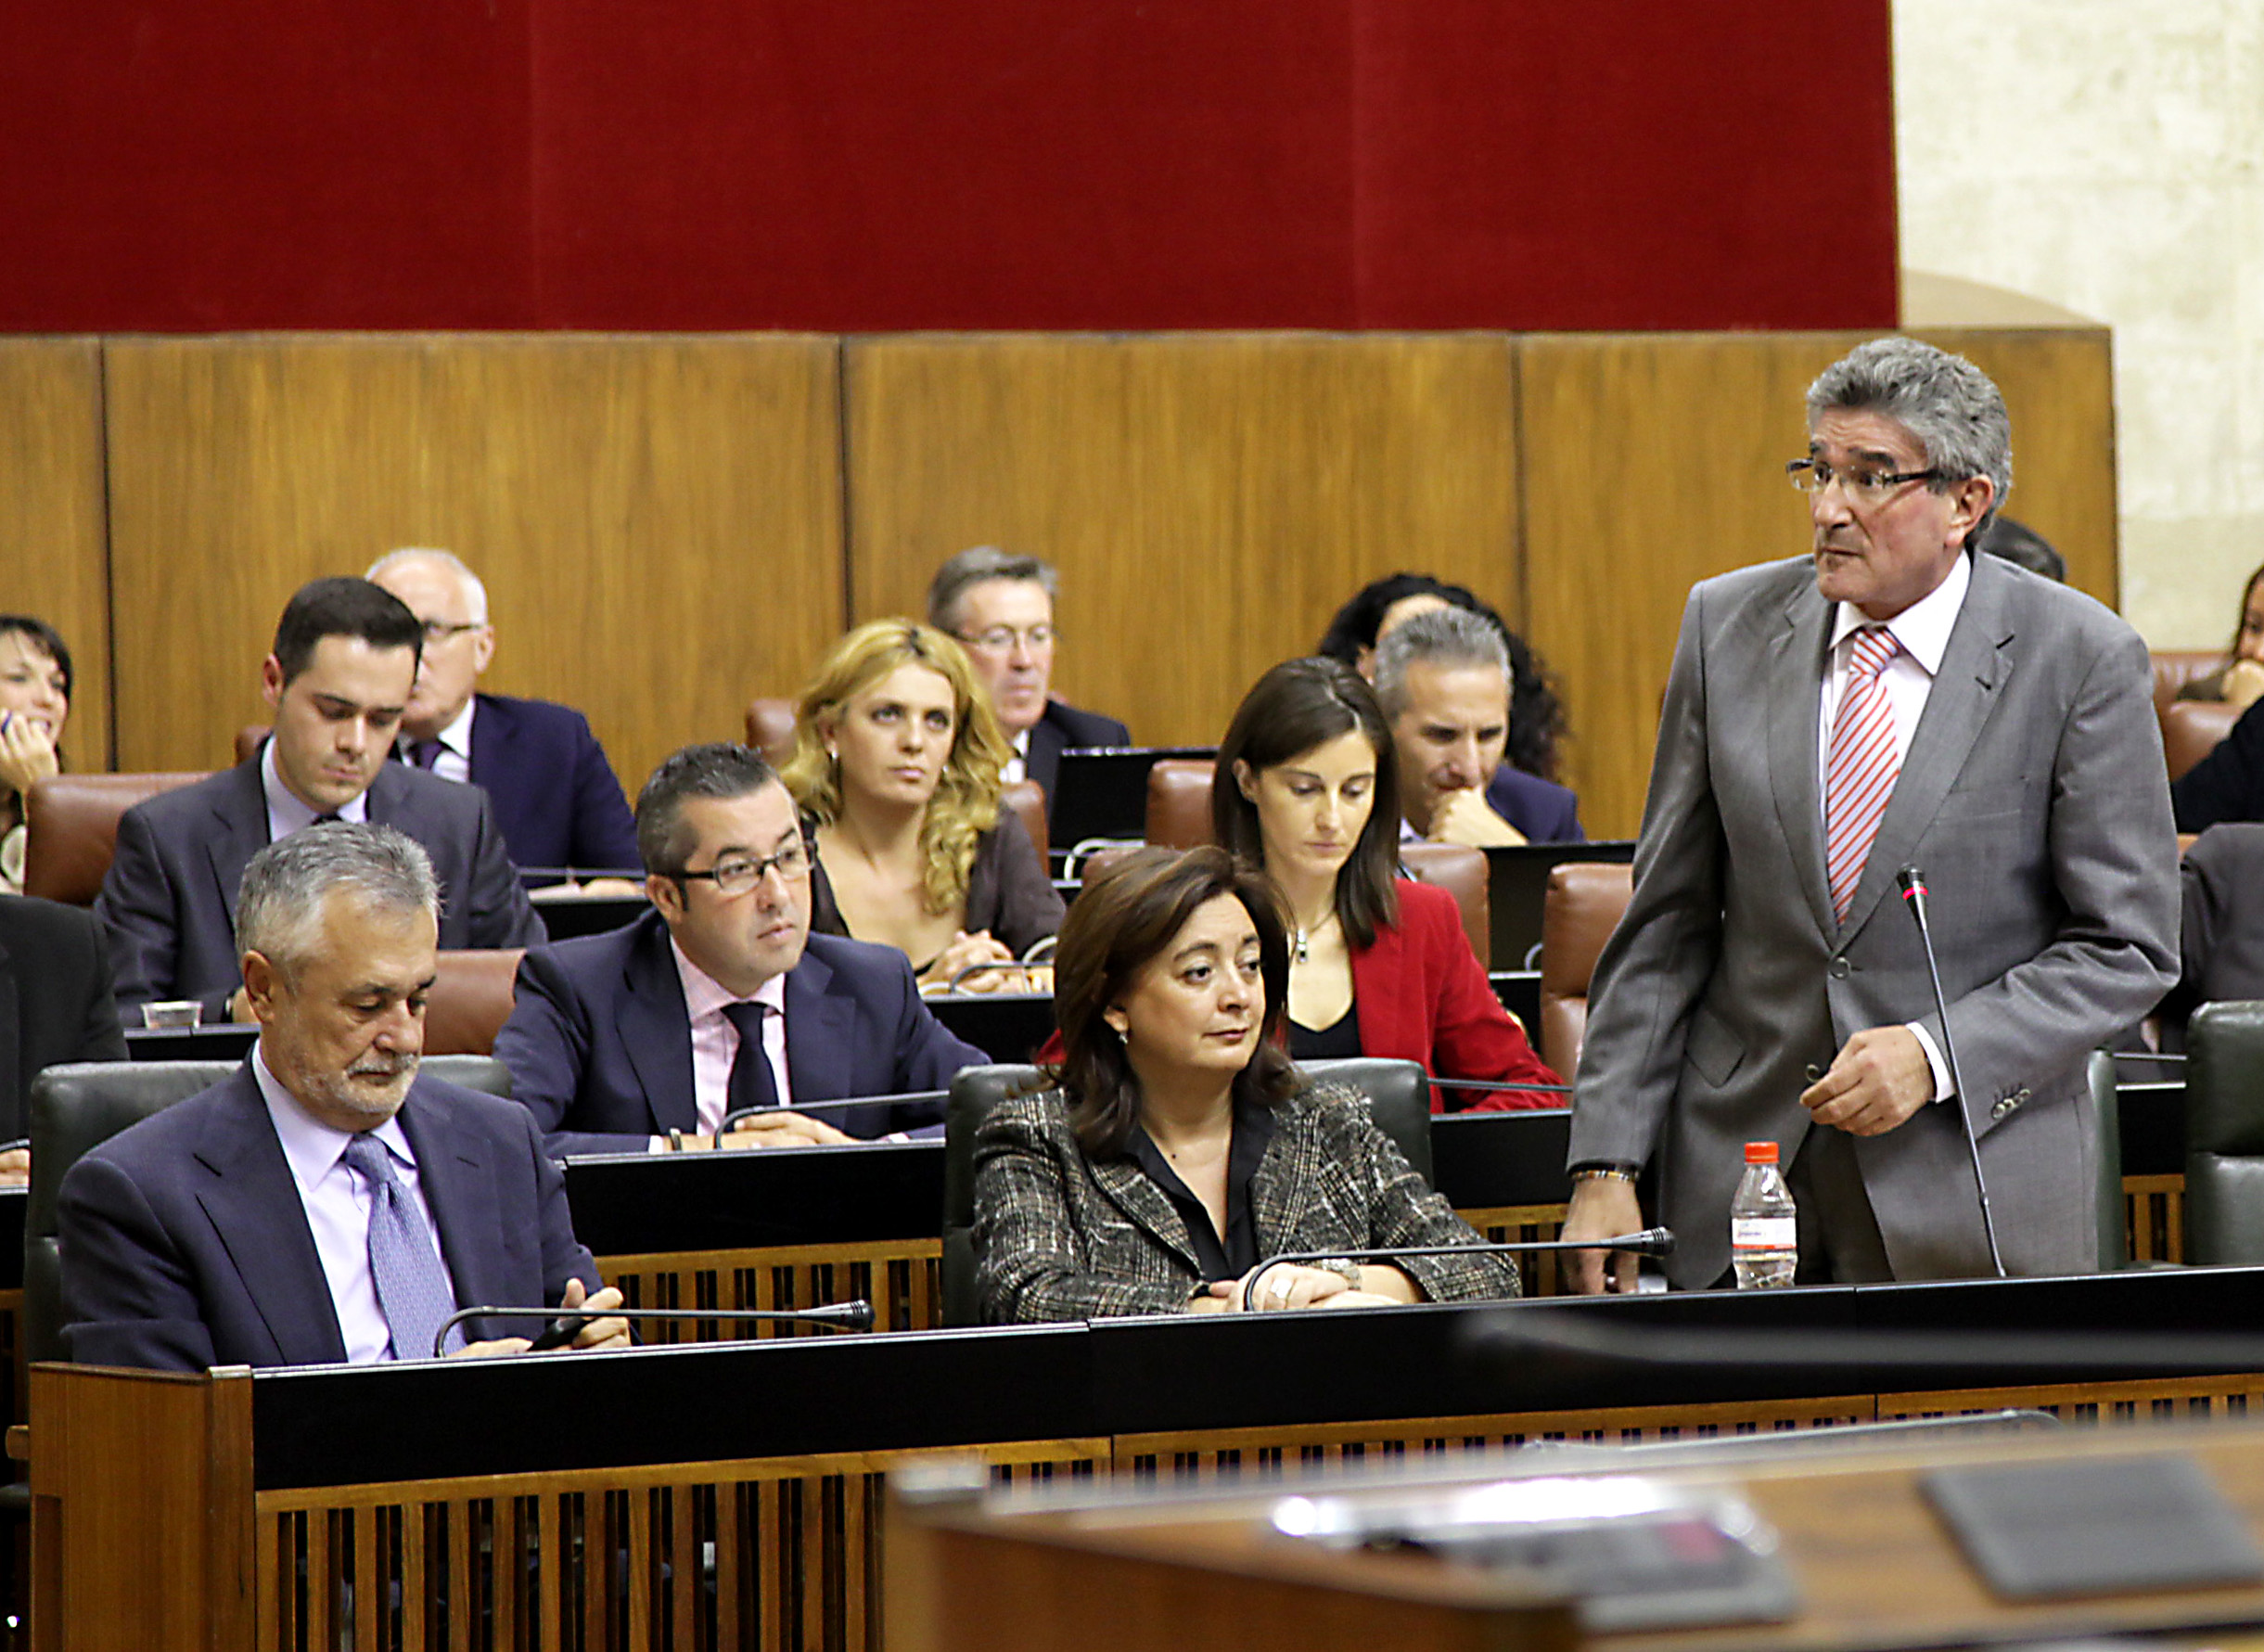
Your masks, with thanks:
M 1997 692 L 2013 674 L 2013 654 L 2006 647 L 2013 627 L 2004 618 L 2001 588 L 1990 577 L 1995 568 L 1986 566 L 1988 557 L 1972 561 L 1972 584 L 1965 588 L 1956 625 L 1949 627 L 1943 668 L 1927 690 L 1927 711 L 1911 733 L 1911 751 L 1902 760 L 1902 774 L 1895 776 L 1895 794 L 1879 819 L 1879 835 L 1863 862 L 1863 880 L 1847 903 L 1850 935 L 1870 921 L 1879 898 L 1895 885 L 1895 871 L 1918 853 L 1918 840 L 1927 835 L 1943 799 L 1956 785 L 1974 740 L 1997 706 Z

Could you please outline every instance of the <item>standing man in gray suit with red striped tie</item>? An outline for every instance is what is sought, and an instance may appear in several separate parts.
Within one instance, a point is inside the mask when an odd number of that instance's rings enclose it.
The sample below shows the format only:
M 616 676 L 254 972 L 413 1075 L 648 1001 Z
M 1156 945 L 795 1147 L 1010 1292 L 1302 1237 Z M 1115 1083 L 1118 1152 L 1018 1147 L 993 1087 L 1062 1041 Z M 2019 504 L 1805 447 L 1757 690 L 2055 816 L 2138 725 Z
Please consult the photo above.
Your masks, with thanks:
M 1800 1279 L 2096 1265 L 2083 1059 L 2178 973 L 2178 844 L 2146 645 L 1974 557 L 2013 482 L 2004 398 L 1915 339 L 1809 387 L 1813 552 L 1700 582 L 1660 720 L 1635 898 L 1596 964 L 1564 1238 L 1641 1227 L 1727 1283 L 1746 1141 L 1775 1141 Z M 1933 889 L 1956 1095 L 1895 871 Z M 1583 1290 L 1635 1258 L 1573 1251 Z

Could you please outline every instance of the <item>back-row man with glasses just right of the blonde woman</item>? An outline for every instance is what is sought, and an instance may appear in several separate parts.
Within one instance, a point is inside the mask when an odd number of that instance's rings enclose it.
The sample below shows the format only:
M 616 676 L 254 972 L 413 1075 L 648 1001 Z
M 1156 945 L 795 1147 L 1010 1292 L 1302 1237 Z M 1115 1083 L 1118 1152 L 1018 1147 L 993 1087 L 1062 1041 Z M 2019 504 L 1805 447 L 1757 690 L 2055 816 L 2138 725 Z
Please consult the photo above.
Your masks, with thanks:
M 1037 781 L 1048 803 L 1062 751 L 1132 745 L 1132 731 L 1114 717 L 1053 697 L 1057 591 L 1053 563 L 996 545 L 962 550 L 928 584 L 928 625 L 960 638 L 1014 742 L 1003 778 Z

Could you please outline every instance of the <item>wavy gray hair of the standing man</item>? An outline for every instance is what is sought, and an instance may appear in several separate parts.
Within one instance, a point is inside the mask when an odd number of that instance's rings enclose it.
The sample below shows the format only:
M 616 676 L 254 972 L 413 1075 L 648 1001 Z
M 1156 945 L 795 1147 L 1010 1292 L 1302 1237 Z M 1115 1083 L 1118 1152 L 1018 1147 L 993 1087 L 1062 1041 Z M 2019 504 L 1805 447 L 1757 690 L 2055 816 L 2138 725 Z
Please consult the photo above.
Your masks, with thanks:
M 1986 475 L 1997 484 L 1988 516 L 1965 536 L 1967 548 L 2013 491 L 2013 416 L 1995 380 L 1963 355 L 1920 339 L 1884 337 L 1856 344 L 1809 385 L 1809 430 L 1827 412 L 1875 412 L 1909 430 L 1940 471 L 1929 487 L 1940 493 L 1954 482 Z

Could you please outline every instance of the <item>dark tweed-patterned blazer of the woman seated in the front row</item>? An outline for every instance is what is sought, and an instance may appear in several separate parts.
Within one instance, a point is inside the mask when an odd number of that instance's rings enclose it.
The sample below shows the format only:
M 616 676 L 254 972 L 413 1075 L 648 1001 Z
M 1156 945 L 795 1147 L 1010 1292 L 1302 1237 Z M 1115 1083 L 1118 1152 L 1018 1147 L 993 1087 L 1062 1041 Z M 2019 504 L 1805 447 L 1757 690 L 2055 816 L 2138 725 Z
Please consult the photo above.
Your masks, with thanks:
M 1250 1215 L 1259 1256 L 1481 1242 L 1370 1122 L 1361 1093 L 1340 1086 L 1281 1102 Z M 1001 1102 L 983 1120 L 974 1238 L 989 1322 L 1180 1313 L 1207 1283 L 1180 1211 L 1130 1154 L 1084 1156 L 1062 1091 Z M 1401 1267 L 1433 1301 L 1517 1294 L 1501 1256 Z

